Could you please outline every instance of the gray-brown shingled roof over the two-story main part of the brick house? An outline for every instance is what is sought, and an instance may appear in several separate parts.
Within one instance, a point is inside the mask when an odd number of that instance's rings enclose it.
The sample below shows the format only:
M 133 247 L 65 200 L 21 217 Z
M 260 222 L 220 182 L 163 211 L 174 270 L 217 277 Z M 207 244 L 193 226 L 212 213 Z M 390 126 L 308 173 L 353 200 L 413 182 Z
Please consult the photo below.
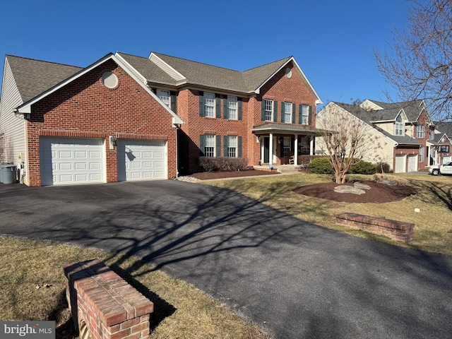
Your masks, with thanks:
M 200 85 L 208 88 L 218 88 L 239 93 L 251 93 L 259 88 L 270 76 L 278 71 L 292 57 L 273 61 L 270 64 L 258 66 L 247 71 L 234 71 L 218 66 L 203 64 L 197 61 L 172 57 L 166 54 L 152 52 L 166 64 L 178 71 L 186 78 L 184 83 Z M 165 83 L 180 85 L 158 68 L 150 59 L 135 57 L 130 54 L 120 54 L 150 83 Z

